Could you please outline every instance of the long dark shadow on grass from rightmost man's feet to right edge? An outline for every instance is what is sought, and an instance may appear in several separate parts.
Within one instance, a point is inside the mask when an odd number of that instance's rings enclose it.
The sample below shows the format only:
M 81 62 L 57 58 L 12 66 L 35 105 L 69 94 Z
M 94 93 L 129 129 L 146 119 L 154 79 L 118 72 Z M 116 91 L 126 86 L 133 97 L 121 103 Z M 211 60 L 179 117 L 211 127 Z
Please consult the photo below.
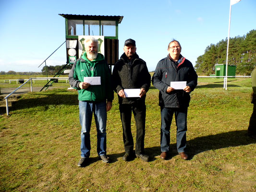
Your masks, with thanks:
M 160 137 L 160 135 L 159 135 Z M 233 131 L 219 133 L 216 135 L 207 135 L 203 137 L 197 137 L 195 139 L 187 141 L 187 154 L 189 159 L 193 156 L 202 153 L 204 151 L 216 150 L 221 148 L 241 146 L 247 144 L 255 144 L 256 140 L 251 139 L 247 136 L 247 130 Z M 156 160 L 156 156 L 160 156 L 161 149 L 160 146 L 149 147 L 145 149 L 145 152 L 151 156 L 151 161 Z M 170 145 L 169 158 L 177 156 L 178 152 L 176 150 L 176 143 Z M 167 159 L 167 160 L 168 160 Z

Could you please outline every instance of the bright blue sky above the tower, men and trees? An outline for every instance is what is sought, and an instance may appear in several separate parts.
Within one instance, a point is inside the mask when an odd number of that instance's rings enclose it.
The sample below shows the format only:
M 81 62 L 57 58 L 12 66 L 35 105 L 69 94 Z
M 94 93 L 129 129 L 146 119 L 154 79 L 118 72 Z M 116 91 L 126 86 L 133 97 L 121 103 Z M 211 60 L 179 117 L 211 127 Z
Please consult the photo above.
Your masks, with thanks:
M 232 5 L 230 37 L 256 29 L 256 0 Z M 172 38 L 193 65 L 207 46 L 228 36 L 230 0 L 0 0 L 0 71 L 41 72 L 38 66 L 65 41 L 59 14 L 119 15 L 119 56 L 128 38 L 154 71 Z M 63 45 L 47 65 L 66 63 Z

